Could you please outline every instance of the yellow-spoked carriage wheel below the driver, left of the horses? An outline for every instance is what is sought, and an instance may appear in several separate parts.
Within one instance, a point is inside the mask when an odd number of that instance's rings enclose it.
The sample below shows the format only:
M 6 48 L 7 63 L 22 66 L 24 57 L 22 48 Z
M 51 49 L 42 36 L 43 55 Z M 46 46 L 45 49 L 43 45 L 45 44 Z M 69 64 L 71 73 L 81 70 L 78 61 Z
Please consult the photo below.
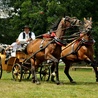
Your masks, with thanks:
M 12 68 L 12 77 L 15 81 L 20 82 L 22 80 L 22 67 L 20 66 L 20 64 L 14 64 Z

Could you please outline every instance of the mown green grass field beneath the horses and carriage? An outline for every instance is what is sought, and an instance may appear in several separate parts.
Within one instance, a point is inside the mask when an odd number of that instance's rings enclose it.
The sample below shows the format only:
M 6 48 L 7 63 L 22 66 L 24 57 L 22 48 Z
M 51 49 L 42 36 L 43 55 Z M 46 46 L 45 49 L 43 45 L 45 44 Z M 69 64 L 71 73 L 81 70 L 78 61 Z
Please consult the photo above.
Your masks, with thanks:
M 31 83 L 31 80 L 16 82 L 11 73 L 3 72 L 0 80 L 0 98 L 97 98 L 98 83 L 92 70 L 70 71 L 77 84 L 71 84 L 60 70 L 62 85 L 51 81 L 41 81 L 41 85 Z

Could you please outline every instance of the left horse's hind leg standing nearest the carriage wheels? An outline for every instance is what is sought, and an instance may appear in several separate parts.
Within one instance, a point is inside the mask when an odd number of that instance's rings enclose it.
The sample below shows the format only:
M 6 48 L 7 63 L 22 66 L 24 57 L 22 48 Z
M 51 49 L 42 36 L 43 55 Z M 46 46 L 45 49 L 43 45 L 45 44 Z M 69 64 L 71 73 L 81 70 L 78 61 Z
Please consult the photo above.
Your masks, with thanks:
M 31 59 L 31 74 L 32 74 L 32 82 L 36 84 L 40 84 L 40 82 L 37 79 L 37 74 L 36 74 L 36 67 L 35 64 L 33 63 L 34 60 Z

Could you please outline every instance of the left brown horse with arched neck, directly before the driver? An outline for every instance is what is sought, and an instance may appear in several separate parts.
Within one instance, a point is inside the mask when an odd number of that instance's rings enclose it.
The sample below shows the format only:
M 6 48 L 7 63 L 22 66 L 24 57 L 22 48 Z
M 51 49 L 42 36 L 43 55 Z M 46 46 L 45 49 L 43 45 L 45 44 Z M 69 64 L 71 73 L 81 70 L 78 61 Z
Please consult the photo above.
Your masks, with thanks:
M 58 77 L 58 61 L 61 54 L 61 46 L 57 43 L 58 40 L 61 40 L 60 37 L 63 36 L 66 29 L 71 26 L 79 24 L 80 21 L 77 18 L 65 17 L 62 18 L 59 22 L 58 28 L 55 32 L 56 36 L 54 38 L 48 39 L 35 39 L 30 42 L 27 46 L 27 53 L 30 56 L 31 60 L 31 73 L 32 73 L 32 82 L 39 84 L 40 82 L 37 79 L 36 70 L 43 61 L 49 59 L 55 63 L 55 72 L 56 72 L 56 83 L 59 84 Z M 42 46 L 41 46 L 42 45 Z M 41 46 L 41 48 L 40 48 Z

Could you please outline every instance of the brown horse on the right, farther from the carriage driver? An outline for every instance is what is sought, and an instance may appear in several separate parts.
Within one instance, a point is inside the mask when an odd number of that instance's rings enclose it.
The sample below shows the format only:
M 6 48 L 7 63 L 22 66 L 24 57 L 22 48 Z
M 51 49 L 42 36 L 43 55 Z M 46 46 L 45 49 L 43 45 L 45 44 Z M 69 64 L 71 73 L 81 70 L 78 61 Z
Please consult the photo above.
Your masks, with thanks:
M 94 41 L 91 37 L 92 19 L 86 20 L 84 23 L 84 32 L 80 33 L 80 37 L 67 46 L 62 47 L 61 58 L 66 64 L 64 73 L 67 75 L 70 82 L 74 82 L 72 77 L 69 75 L 69 68 L 75 62 L 86 61 L 89 63 L 96 74 L 96 81 L 98 82 L 98 71 L 97 63 L 94 60 Z

